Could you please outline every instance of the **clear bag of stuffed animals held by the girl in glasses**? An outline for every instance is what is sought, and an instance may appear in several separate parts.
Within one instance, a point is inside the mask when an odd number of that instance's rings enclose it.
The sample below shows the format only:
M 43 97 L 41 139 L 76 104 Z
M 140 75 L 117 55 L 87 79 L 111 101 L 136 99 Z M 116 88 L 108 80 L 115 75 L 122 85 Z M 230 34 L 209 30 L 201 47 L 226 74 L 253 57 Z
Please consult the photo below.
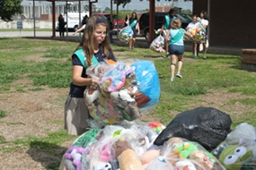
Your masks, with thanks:
M 104 123 L 136 120 L 159 101 L 160 84 L 154 63 L 126 60 L 90 66 L 87 75 L 99 80 L 98 89 L 85 89 L 90 115 Z

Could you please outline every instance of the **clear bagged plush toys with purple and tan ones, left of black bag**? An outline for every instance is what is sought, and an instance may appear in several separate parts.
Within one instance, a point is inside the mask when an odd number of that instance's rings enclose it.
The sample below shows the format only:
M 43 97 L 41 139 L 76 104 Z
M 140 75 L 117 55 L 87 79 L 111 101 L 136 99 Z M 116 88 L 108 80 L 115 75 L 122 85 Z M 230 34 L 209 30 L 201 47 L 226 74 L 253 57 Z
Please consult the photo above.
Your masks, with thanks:
M 153 126 L 152 126 L 153 125 Z M 142 170 L 140 157 L 150 148 L 162 123 L 124 121 L 84 132 L 66 150 L 60 170 Z M 158 129 L 159 130 L 159 129 Z

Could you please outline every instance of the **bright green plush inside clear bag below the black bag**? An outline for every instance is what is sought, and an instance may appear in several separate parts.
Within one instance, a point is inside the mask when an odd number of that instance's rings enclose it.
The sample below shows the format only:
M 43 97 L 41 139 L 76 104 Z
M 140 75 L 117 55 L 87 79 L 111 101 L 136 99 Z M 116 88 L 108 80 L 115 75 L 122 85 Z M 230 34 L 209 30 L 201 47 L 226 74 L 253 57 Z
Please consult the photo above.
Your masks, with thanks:
M 183 142 L 181 145 L 173 149 L 174 154 L 178 154 L 181 159 L 187 158 L 190 156 L 190 153 L 194 150 L 197 150 L 198 147 L 191 142 Z

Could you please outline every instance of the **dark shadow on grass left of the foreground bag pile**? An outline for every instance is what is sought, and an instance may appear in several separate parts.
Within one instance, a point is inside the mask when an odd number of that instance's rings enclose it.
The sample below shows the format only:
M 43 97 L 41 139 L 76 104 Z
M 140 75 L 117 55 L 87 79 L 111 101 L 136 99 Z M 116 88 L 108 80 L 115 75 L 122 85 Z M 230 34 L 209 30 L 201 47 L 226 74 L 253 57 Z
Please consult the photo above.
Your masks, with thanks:
M 43 142 L 43 141 L 31 141 L 30 149 L 26 151 L 31 158 L 48 169 L 48 170 L 58 170 L 62 156 L 66 152 L 65 147 L 60 147 L 58 145 Z

